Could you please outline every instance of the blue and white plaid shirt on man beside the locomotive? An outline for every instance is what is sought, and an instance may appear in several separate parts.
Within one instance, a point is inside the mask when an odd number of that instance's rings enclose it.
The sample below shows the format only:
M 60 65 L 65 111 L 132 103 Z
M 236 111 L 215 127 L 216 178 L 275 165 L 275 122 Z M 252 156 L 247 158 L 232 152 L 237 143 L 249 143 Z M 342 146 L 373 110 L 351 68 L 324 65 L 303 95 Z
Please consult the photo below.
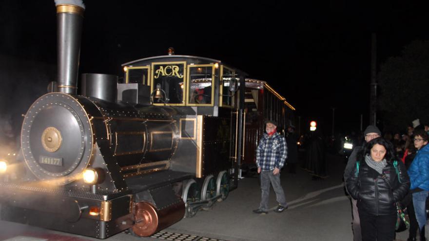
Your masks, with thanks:
M 287 157 L 288 146 L 285 138 L 277 132 L 272 136 L 264 133 L 256 149 L 256 166 L 263 171 L 274 170 L 274 167 L 280 169 Z

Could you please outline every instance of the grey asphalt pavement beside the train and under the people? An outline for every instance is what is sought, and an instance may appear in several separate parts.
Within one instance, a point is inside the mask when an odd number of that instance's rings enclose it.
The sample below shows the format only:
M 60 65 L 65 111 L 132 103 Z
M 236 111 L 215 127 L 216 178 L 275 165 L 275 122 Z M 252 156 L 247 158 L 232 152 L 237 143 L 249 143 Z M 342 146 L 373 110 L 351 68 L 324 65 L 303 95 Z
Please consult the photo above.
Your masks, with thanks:
M 107 241 L 351 241 L 351 204 L 344 193 L 341 156 L 328 155 L 329 177 L 317 181 L 307 171 L 281 172 L 289 208 L 282 213 L 254 214 L 260 201 L 257 177 L 244 178 L 228 198 L 209 211 L 199 211 L 150 238 L 120 233 Z M 270 195 L 272 210 L 275 193 Z M 397 234 L 406 240 L 408 231 Z M 95 241 L 97 239 L 0 222 L 0 240 Z

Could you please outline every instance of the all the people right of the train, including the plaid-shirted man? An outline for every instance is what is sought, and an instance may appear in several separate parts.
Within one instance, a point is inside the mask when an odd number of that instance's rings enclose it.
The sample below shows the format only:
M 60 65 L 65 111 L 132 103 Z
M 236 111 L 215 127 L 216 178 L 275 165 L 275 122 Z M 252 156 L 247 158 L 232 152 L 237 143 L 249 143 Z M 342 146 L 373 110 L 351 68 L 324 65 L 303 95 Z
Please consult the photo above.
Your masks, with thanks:
M 256 150 L 256 165 L 261 178 L 261 203 L 253 212 L 268 213 L 270 185 L 278 206 L 274 212 L 288 208 L 280 170 L 288 158 L 286 139 L 277 133 L 275 121 L 266 121 L 266 133 Z M 364 142 L 354 147 L 344 170 L 346 191 L 351 195 L 354 241 L 393 241 L 398 222 L 398 207 L 409 215 L 407 241 L 426 241 L 427 200 L 429 196 L 429 126 L 413 121 L 407 133 L 382 132 L 373 125 L 364 131 Z M 293 128 L 286 138 L 296 150 Z M 312 132 L 306 145 L 303 168 L 314 177 L 326 177 L 323 139 Z M 296 159 L 296 153 L 291 155 Z M 289 160 L 291 161 L 291 160 Z M 296 160 L 295 160 L 296 161 Z M 295 161 L 290 171 L 295 172 Z M 406 208 L 405 208 L 406 207 Z

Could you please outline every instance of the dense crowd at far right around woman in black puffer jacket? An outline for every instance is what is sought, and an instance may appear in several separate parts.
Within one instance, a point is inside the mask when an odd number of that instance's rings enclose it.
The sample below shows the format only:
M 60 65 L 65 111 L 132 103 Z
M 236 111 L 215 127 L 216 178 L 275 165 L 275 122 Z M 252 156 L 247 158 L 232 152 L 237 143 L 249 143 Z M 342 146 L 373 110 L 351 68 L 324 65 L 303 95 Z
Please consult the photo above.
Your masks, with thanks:
M 426 241 L 429 193 L 429 126 L 419 120 L 407 133 L 386 133 L 376 126 L 364 131 L 365 143 L 354 148 L 344 171 L 352 197 L 354 241 L 392 241 L 397 222 L 396 204 L 407 207 L 409 238 Z

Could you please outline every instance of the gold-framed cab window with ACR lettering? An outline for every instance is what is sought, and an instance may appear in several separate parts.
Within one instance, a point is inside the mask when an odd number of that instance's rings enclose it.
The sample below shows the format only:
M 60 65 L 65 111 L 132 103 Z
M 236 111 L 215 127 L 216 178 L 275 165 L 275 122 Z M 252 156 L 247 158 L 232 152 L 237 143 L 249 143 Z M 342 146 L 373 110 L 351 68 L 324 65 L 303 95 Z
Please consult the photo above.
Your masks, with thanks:
M 186 62 L 152 63 L 152 85 L 154 92 L 159 87 L 162 96 L 155 104 L 185 105 Z

